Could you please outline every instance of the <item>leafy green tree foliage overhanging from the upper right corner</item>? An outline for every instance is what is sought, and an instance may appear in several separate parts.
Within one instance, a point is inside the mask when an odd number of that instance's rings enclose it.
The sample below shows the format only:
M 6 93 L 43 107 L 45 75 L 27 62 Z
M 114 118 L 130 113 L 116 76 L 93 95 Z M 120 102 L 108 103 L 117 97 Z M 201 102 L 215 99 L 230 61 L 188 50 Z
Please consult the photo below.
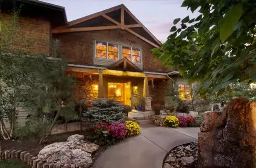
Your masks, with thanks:
M 200 81 L 202 95 L 231 92 L 237 81 L 255 82 L 256 1 L 184 0 L 182 6 L 201 14 L 174 19 L 168 40 L 152 49 L 157 58 L 177 67 L 189 83 Z

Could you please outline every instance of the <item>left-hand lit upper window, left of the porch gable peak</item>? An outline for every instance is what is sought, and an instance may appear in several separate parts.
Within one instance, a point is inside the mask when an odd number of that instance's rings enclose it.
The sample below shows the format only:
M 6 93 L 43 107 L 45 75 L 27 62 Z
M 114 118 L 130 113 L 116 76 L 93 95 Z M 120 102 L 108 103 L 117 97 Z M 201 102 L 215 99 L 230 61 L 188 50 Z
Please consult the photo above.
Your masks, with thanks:
M 96 41 L 96 57 L 103 59 L 118 59 L 118 45 Z

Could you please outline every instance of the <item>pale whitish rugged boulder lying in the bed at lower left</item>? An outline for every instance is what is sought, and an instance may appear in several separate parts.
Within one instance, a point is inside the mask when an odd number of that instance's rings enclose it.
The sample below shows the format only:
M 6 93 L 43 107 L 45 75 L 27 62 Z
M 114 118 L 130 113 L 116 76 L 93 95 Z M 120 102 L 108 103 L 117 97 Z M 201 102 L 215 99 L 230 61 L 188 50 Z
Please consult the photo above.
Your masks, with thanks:
M 72 135 L 66 142 L 44 146 L 38 153 L 38 159 L 48 164 L 74 164 L 88 168 L 92 165 L 92 153 L 98 148 L 94 143 L 86 143 L 83 135 Z

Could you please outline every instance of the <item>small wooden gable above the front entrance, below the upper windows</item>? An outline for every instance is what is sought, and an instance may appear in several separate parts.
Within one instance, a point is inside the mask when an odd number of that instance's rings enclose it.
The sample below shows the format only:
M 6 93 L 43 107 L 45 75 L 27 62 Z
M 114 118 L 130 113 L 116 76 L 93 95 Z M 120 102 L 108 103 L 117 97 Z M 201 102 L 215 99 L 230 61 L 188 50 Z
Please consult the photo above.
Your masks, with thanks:
M 120 59 L 117 62 L 114 62 L 113 64 L 109 65 L 107 67 L 108 69 L 123 69 L 123 70 L 136 70 L 136 71 L 140 71 L 140 69 L 133 64 L 133 62 L 131 62 L 129 59 L 127 59 L 126 57 L 123 57 L 122 59 Z

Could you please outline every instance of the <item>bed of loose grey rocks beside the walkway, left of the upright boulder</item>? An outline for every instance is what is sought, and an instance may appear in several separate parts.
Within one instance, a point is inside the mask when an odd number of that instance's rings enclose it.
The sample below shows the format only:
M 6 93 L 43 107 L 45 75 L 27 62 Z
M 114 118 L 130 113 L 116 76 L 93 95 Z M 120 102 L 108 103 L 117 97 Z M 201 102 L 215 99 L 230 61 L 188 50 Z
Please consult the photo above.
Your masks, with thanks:
M 164 157 L 163 168 L 197 168 L 198 143 L 176 146 Z

